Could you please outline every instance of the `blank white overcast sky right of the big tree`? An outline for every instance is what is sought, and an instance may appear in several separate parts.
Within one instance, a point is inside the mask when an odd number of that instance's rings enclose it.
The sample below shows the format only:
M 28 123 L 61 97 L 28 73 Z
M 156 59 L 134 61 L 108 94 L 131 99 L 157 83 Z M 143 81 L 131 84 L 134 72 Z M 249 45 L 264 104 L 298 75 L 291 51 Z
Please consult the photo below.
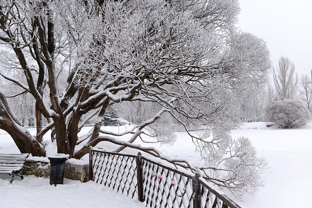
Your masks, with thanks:
M 264 39 L 276 66 L 281 55 L 294 62 L 298 76 L 312 70 L 312 1 L 239 0 L 236 25 Z

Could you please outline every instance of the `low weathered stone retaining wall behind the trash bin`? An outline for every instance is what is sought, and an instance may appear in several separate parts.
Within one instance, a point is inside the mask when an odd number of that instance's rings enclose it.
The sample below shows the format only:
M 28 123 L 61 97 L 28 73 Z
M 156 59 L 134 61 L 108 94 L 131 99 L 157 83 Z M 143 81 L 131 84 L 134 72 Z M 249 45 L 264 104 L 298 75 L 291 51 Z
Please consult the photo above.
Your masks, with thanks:
M 37 177 L 50 178 L 50 163 L 44 161 L 26 160 L 23 175 L 35 175 Z M 73 165 L 65 163 L 64 178 L 81 182 L 89 181 L 89 165 Z

